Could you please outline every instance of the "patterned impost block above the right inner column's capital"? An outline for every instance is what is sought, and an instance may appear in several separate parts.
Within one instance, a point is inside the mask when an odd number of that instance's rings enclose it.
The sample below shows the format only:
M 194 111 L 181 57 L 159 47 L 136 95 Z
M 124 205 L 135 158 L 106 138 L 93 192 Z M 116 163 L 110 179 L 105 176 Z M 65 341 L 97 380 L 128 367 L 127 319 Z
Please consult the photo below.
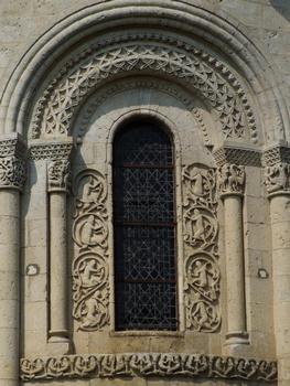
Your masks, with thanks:
M 215 150 L 213 156 L 218 168 L 226 163 L 234 163 L 244 167 L 261 167 L 261 153 L 258 150 L 222 147 Z

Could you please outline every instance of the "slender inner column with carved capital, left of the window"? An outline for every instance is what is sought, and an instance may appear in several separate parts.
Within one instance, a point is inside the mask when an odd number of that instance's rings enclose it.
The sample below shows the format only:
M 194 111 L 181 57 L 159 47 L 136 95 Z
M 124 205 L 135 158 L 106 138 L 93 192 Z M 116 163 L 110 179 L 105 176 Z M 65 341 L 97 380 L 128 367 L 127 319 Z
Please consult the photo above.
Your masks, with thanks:
M 50 194 L 50 341 L 68 341 L 66 195 L 69 162 L 49 163 Z

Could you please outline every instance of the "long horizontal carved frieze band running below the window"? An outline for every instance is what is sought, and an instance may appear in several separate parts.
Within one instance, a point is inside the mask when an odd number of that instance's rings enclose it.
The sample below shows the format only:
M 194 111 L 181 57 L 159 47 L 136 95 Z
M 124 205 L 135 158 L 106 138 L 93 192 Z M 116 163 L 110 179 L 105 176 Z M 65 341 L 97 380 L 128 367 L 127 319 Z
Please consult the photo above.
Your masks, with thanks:
M 273 383 L 277 363 L 264 360 L 197 354 L 89 354 L 21 360 L 24 382 L 111 377 L 189 377 Z

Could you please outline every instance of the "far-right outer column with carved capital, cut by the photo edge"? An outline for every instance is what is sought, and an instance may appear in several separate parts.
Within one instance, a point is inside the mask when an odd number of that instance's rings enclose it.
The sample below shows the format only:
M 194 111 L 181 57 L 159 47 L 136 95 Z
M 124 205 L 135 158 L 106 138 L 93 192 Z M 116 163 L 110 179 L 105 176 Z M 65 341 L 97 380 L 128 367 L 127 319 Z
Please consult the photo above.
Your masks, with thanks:
M 290 154 L 290 149 L 289 154 Z M 273 323 L 279 386 L 290 384 L 290 163 L 266 168 L 272 234 Z

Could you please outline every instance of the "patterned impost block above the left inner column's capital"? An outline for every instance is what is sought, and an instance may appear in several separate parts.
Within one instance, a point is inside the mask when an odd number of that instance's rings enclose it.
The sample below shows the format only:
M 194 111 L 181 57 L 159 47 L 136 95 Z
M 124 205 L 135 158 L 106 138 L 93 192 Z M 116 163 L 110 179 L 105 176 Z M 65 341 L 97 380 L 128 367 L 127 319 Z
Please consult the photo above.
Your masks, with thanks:
M 31 143 L 29 158 L 32 160 L 67 160 L 73 149 L 72 139 L 62 142 L 39 142 Z

